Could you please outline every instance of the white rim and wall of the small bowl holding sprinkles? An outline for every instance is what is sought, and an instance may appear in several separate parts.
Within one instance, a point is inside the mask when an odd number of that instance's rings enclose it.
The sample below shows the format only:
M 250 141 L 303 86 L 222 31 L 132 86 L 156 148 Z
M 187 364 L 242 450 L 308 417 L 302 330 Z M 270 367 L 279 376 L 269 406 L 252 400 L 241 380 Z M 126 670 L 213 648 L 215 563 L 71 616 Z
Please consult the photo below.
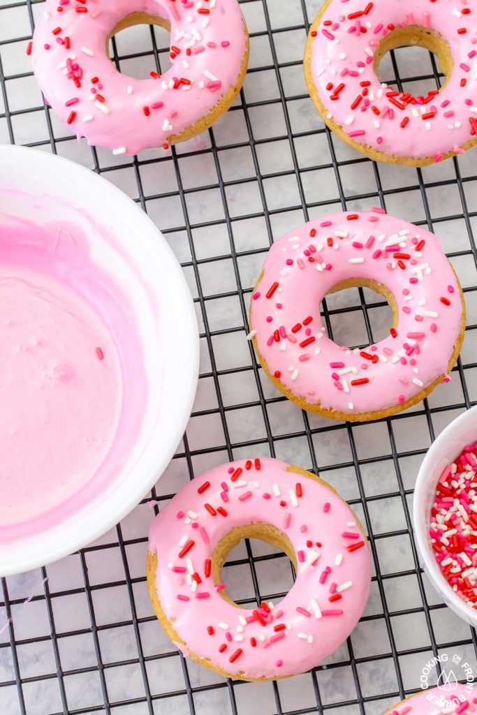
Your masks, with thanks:
M 466 606 L 443 577 L 431 548 L 428 524 L 436 486 L 444 468 L 458 457 L 467 444 L 475 442 L 476 439 L 477 407 L 473 407 L 453 420 L 431 445 L 418 473 L 413 503 L 414 537 L 424 571 L 449 608 L 474 628 L 477 627 L 477 611 Z

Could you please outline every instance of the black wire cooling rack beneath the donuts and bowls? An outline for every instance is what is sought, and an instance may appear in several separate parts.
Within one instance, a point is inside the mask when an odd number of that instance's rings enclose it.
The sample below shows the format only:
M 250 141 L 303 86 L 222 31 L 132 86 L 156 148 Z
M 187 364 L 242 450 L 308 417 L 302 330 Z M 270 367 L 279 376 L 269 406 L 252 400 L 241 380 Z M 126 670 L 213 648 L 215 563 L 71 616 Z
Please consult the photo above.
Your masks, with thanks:
M 168 641 L 162 639 L 159 647 L 159 626 L 157 647 L 150 638 L 149 626 L 157 624 L 144 606 L 151 516 L 144 500 L 134 522 L 139 528 L 131 530 L 125 520 L 70 557 L 79 581 L 63 578 L 55 586 L 51 567 L 41 568 L 36 573 L 41 587 L 25 603 L 29 576 L 1 579 L 0 628 L 11 621 L 0 632 L 0 714 L 298 715 L 333 710 L 335 715 L 380 715 L 420 689 L 421 670 L 433 656 L 446 652 L 455 662 L 463 658 L 476 664 L 475 632 L 428 587 L 410 522 L 413 481 L 426 448 L 476 401 L 476 150 L 436 167 L 407 169 L 373 164 L 333 137 L 311 107 L 303 83 L 301 53 L 318 10 L 317 1 L 305 0 L 242 0 L 251 39 L 247 80 L 235 106 L 203 142 L 133 159 L 84 144 L 79 149 L 34 89 L 25 58 L 41 5 L 0 0 L 0 140 L 77 158 L 125 187 L 164 230 L 195 296 L 202 343 L 198 398 L 183 443 L 152 498 L 160 509 L 181 480 L 233 458 L 285 458 L 319 471 L 348 498 L 368 530 L 375 571 L 365 616 L 327 664 L 273 684 L 227 681 L 191 664 Z M 129 45 L 122 51 L 113 39 L 118 69 L 129 71 L 134 65 L 146 74 L 164 69 L 167 41 L 157 32 L 147 29 L 147 42 L 133 48 L 141 46 L 140 52 L 127 51 Z M 414 67 L 424 66 L 428 69 L 415 73 Z M 410 91 L 441 82 L 435 58 L 427 53 L 409 63 L 404 50 L 395 51 L 385 72 L 388 82 Z M 464 285 L 470 324 L 450 385 L 387 420 L 333 423 L 302 413 L 271 388 L 245 340 L 247 305 L 273 237 L 311 217 L 374 205 L 425 225 L 443 239 Z M 376 339 L 376 316 L 387 320 L 386 310 L 385 303 L 363 290 L 348 292 L 344 303 L 343 297 L 323 303 L 328 331 L 337 339 L 348 344 L 350 332 L 362 323 L 355 340 L 361 347 Z M 113 559 L 119 566 L 109 578 L 107 563 Z M 72 563 L 63 567 L 67 561 L 55 573 L 67 571 Z M 104 569 L 102 578 L 94 574 L 94 563 Z M 250 606 L 264 597 L 282 598 L 292 581 L 290 569 L 282 554 L 246 542 L 230 556 L 224 578 L 237 603 Z M 119 590 L 122 606 L 117 605 Z M 114 612 L 107 621 L 99 616 L 99 596 Z M 65 598 L 81 601 L 86 623 L 69 626 L 68 618 L 59 618 Z M 30 636 L 22 619 L 35 607 L 43 609 L 46 628 Z M 67 613 L 72 615 L 72 608 Z M 86 637 L 88 656 L 82 650 Z M 105 647 L 106 637 L 112 647 Z M 66 644 L 75 658 L 65 656 Z M 49 665 L 41 666 L 46 650 Z M 118 679 L 123 684 L 119 691 Z

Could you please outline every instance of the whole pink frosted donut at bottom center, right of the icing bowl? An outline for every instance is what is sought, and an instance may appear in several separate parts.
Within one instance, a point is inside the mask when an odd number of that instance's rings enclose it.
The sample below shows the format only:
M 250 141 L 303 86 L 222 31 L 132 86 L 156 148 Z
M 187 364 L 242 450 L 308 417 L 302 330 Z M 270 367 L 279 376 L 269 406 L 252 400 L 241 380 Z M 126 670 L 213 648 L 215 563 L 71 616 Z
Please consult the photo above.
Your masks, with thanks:
M 297 578 L 285 598 L 253 610 L 230 600 L 220 572 L 242 538 L 285 551 Z M 310 472 L 242 460 L 192 480 L 149 533 L 147 581 L 174 644 L 227 677 L 272 680 L 318 665 L 365 608 L 370 553 L 350 507 Z

